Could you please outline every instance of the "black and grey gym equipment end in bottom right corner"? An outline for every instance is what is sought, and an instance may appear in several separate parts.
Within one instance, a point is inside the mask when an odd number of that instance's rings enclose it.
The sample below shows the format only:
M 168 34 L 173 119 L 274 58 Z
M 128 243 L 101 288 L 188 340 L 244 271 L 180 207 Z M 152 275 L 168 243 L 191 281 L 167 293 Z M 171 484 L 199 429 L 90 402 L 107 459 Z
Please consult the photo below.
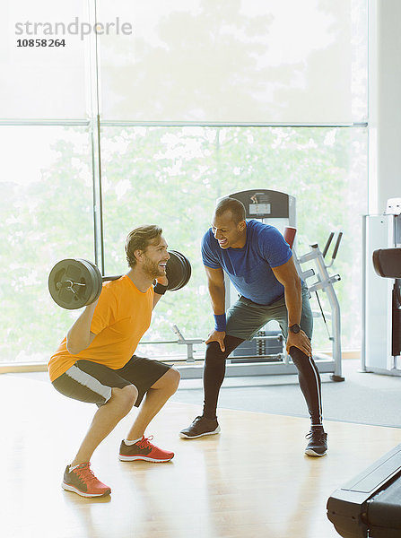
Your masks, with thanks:
M 327 517 L 344 538 L 399 538 L 401 445 L 336 490 Z

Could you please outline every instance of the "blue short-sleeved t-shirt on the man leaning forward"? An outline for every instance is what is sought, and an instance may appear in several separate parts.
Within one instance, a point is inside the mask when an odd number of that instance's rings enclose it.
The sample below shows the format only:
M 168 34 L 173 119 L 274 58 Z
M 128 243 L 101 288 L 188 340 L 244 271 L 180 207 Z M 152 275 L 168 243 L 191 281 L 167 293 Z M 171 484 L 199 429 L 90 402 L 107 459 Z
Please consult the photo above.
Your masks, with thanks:
M 285 264 L 291 256 L 291 248 L 274 226 L 253 219 L 247 221 L 247 240 L 242 248 L 219 247 L 211 228 L 202 239 L 204 265 L 222 267 L 240 295 L 259 305 L 283 297 L 283 284 L 271 268 Z

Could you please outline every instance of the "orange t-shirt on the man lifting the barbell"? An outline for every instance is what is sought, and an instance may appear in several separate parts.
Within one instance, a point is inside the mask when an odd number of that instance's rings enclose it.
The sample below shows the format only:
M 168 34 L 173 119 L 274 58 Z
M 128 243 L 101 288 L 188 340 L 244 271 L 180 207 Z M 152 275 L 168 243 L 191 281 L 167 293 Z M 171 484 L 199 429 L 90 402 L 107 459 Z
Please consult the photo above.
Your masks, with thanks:
M 91 324 L 96 337 L 76 355 L 66 349 L 65 337 L 48 362 L 50 381 L 79 359 L 92 360 L 110 369 L 125 366 L 151 325 L 152 309 L 153 286 L 143 293 L 126 274 L 117 281 L 103 282 Z

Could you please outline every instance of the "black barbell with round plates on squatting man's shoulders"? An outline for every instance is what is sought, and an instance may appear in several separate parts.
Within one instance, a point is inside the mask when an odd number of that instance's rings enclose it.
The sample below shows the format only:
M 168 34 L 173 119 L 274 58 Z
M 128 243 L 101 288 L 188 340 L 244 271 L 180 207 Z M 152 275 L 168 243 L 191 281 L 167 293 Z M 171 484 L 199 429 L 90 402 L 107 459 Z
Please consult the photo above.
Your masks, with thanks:
M 183 288 L 191 277 L 189 260 L 177 250 L 169 250 L 166 265 L 168 291 Z M 66 258 L 57 262 L 48 275 L 48 291 L 58 306 L 67 310 L 83 308 L 100 296 L 103 282 L 118 280 L 118 276 L 101 276 L 99 268 L 82 258 Z

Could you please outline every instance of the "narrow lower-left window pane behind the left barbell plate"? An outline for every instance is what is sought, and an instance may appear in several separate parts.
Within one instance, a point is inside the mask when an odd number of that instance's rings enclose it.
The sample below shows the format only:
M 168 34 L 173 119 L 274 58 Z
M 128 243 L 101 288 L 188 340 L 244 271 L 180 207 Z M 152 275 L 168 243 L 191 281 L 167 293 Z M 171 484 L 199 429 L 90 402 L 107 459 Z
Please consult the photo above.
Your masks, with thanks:
M 93 260 L 90 139 L 83 128 L 1 127 L 0 360 L 48 361 L 75 313 L 48 294 L 60 259 Z

